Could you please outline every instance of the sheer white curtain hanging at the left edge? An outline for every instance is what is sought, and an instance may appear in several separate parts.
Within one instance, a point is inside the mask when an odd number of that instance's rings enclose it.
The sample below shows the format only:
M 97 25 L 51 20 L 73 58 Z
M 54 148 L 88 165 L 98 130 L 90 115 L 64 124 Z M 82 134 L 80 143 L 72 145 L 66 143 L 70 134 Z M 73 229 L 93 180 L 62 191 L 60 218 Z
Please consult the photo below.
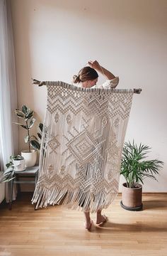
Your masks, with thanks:
M 12 124 L 16 121 L 17 92 L 10 0 L 0 0 L 0 35 L 0 161 L 6 169 L 9 156 L 18 153 L 18 127 Z M 0 193 L 3 189 L 1 185 Z

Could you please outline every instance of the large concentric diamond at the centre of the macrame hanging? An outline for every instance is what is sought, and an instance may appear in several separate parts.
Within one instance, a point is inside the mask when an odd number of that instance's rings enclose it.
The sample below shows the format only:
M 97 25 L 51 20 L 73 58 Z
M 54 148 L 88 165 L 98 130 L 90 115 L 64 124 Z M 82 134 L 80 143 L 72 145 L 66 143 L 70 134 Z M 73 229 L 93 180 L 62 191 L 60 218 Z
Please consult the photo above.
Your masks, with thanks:
M 88 133 L 83 132 L 69 143 L 69 151 L 71 151 L 79 161 L 86 161 L 96 153 L 97 146 Z

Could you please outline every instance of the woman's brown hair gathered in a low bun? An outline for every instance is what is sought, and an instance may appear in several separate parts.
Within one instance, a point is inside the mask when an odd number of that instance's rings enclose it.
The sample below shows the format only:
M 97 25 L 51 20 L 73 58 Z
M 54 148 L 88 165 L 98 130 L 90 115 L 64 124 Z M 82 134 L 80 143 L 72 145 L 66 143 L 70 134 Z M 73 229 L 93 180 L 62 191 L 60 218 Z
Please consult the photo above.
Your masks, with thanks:
M 85 82 L 88 80 L 94 80 L 96 78 L 98 78 L 98 73 L 96 70 L 94 70 L 94 68 L 84 67 L 79 71 L 78 75 L 73 76 L 73 82 Z

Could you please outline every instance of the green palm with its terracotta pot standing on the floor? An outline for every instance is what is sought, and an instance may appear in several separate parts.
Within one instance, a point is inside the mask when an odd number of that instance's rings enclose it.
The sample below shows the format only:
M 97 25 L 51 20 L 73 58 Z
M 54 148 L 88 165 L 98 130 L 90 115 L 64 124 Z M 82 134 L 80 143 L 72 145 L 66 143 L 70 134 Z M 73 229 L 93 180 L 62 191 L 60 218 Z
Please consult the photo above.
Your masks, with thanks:
M 122 184 L 122 208 L 126 210 L 142 210 L 142 184 L 144 178 L 153 178 L 159 174 L 163 161 L 145 160 L 149 146 L 126 142 L 122 150 L 121 171 L 126 183 Z M 157 181 L 157 180 L 156 180 Z

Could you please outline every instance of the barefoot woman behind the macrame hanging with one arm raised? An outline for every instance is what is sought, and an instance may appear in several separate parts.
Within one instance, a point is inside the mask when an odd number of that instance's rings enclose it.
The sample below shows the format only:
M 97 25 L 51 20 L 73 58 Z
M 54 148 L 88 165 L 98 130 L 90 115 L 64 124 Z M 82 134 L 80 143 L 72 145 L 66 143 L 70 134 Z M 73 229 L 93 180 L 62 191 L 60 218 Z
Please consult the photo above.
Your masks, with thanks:
M 103 68 L 97 60 L 88 61 L 88 65 L 90 67 L 84 67 L 79 71 L 78 75 L 74 75 L 73 82 L 78 83 L 81 87 L 98 87 L 98 88 L 115 88 L 119 82 L 119 78 L 115 77 L 113 73 L 108 71 L 107 69 Z M 104 77 L 107 79 L 103 85 L 97 86 L 96 82 L 98 82 L 98 73 L 101 73 L 104 75 Z M 90 212 L 85 211 L 84 212 L 85 218 L 86 218 L 86 224 L 85 228 L 87 230 L 91 229 L 92 220 L 90 217 Z M 101 210 L 98 210 L 96 213 L 96 224 L 103 224 L 107 220 L 107 217 L 105 215 L 101 214 Z

